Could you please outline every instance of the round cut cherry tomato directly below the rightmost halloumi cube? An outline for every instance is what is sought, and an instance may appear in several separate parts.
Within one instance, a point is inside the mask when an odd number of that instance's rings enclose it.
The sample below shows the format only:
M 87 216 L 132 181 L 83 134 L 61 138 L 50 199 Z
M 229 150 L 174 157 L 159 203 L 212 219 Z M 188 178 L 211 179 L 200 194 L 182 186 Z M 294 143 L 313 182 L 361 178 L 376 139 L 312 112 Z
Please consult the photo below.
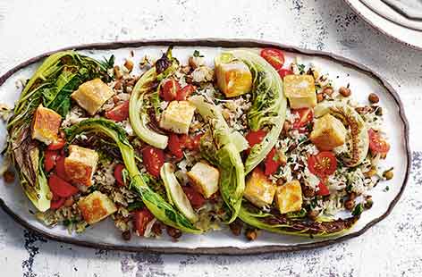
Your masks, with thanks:
M 319 152 L 308 157 L 308 169 L 316 176 L 325 178 L 337 169 L 337 159 L 329 151 Z

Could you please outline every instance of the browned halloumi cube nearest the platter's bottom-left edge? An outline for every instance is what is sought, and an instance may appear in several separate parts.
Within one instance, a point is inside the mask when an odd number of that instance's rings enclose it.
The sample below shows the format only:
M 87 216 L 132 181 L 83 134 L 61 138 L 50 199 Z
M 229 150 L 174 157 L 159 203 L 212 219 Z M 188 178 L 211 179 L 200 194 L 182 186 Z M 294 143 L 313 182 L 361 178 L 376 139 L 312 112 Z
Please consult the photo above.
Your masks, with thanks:
M 117 211 L 114 202 L 105 194 L 94 191 L 78 201 L 83 219 L 89 224 L 99 222 Z

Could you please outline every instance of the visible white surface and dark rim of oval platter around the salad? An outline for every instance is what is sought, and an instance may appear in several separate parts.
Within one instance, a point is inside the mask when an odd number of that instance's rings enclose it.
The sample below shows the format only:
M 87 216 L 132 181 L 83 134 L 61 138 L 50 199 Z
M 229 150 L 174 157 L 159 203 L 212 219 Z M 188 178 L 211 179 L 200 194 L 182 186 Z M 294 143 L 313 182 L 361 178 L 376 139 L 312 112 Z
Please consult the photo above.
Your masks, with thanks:
M 115 62 L 120 64 L 131 51 L 133 51 L 135 59 L 141 59 L 146 54 L 159 57 L 167 46 L 174 46 L 173 55 L 182 63 L 187 62 L 188 55 L 194 50 L 199 50 L 206 56 L 209 64 L 212 64 L 212 57 L 224 49 L 250 48 L 257 50 L 261 47 L 277 47 L 285 51 L 286 63 L 291 63 L 294 57 L 300 57 L 303 63 L 315 63 L 318 67 L 323 68 L 324 72 L 329 73 L 333 79 L 334 85 L 341 86 L 350 83 L 354 97 L 359 102 L 366 101 L 369 92 L 376 92 L 381 99 L 381 105 L 386 110 L 384 124 L 388 130 L 391 144 L 390 154 L 384 164 L 394 167 L 394 178 L 371 190 L 374 206 L 362 214 L 350 231 L 335 237 L 321 239 L 278 235 L 262 231 L 258 239 L 247 241 L 243 237 L 234 237 L 229 230 L 222 230 L 208 232 L 204 235 L 183 234 L 178 242 L 172 242 L 166 236 L 161 239 L 139 239 L 134 236 L 130 241 L 124 241 L 120 231 L 117 231 L 113 222 L 108 220 L 97 223 L 81 234 L 71 234 L 64 227 L 58 226 L 50 229 L 38 222 L 33 215 L 35 207 L 30 204 L 21 186 L 18 183 L 6 185 L 2 179 L 0 180 L 0 206 L 7 214 L 10 214 L 16 222 L 21 223 L 25 228 L 48 239 L 90 248 L 223 255 L 260 254 L 323 247 L 357 237 L 390 214 L 401 197 L 409 176 L 409 124 L 400 97 L 376 73 L 359 63 L 351 62 L 337 55 L 254 40 L 141 40 L 74 46 L 66 49 L 75 49 L 97 59 L 114 55 Z M 17 84 L 21 80 L 29 79 L 43 59 L 52 53 L 34 57 L 0 77 L 2 103 L 12 106 L 21 93 L 21 87 Z M 4 122 L 0 124 L 0 133 L 2 134 L 0 145 L 4 147 L 6 139 Z M 388 191 L 385 186 L 389 187 Z

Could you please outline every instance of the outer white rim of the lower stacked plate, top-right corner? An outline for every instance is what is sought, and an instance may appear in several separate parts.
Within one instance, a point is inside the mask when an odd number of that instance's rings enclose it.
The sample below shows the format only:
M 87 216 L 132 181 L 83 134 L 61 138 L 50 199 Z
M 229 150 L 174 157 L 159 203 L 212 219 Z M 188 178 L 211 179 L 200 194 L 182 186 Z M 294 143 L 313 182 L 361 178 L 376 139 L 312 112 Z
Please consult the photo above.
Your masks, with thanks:
M 367 21 L 372 27 L 393 38 L 396 41 L 404 43 L 407 46 L 422 49 L 422 31 L 418 29 L 410 29 L 394 21 L 388 20 L 386 17 L 374 12 L 361 0 L 344 0 L 350 7 L 359 14 L 359 16 Z M 377 1 L 378 0 L 374 0 Z M 391 8 L 390 8 L 391 9 Z M 385 11 L 384 11 L 385 12 Z

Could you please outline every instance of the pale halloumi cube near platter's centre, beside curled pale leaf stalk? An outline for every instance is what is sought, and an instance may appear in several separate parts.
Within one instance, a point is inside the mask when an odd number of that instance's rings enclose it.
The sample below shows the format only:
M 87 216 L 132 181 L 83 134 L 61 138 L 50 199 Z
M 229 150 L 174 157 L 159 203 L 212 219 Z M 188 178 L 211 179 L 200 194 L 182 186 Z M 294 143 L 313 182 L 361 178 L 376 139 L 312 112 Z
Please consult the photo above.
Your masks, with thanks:
M 177 134 L 187 134 L 194 113 L 195 106 L 188 101 L 172 101 L 161 114 L 159 125 Z

